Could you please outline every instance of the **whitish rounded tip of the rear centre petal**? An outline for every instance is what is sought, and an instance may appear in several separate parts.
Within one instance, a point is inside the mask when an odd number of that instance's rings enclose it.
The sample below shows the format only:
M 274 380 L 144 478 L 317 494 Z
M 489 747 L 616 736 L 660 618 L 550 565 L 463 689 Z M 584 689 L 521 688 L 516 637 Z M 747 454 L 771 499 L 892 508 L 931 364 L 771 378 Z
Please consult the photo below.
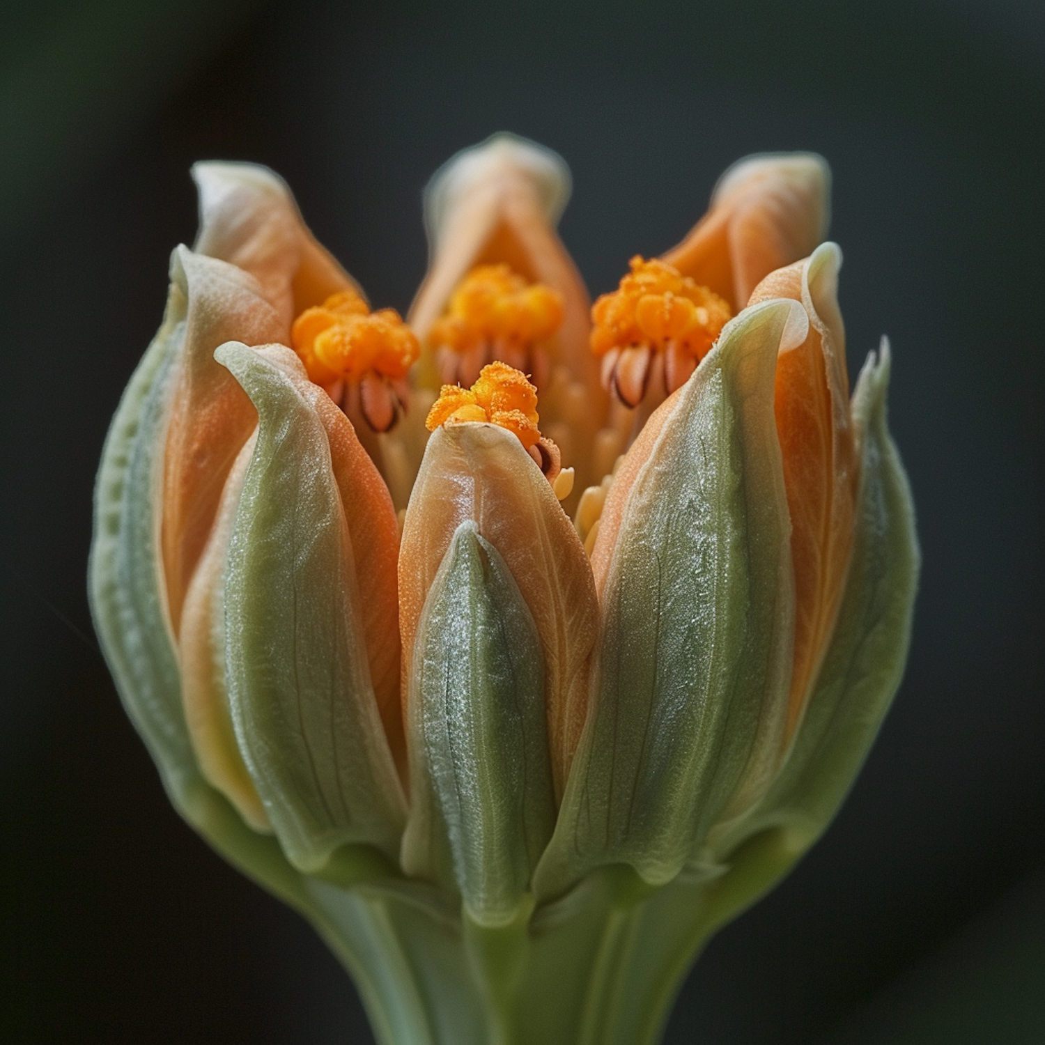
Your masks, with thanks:
M 454 204 L 484 184 L 521 178 L 534 189 L 551 224 L 570 200 L 570 167 L 558 153 L 517 135 L 500 132 L 451 156 L 424 189 L 428 237 L 438 242 Z

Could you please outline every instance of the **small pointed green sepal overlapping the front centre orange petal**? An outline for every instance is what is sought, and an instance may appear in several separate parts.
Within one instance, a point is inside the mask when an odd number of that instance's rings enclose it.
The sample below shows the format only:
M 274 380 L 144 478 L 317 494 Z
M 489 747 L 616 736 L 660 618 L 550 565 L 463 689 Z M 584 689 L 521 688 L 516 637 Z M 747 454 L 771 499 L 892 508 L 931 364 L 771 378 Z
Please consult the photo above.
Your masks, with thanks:
M 411 780 L 436 796 L 464 902 L 477 922 L 507 924 L 555 822 L 543 658 L 518 585 L 471 520 L 425 603 L 411 717 Z M 412 825 L 424 816 L 412 810 Z

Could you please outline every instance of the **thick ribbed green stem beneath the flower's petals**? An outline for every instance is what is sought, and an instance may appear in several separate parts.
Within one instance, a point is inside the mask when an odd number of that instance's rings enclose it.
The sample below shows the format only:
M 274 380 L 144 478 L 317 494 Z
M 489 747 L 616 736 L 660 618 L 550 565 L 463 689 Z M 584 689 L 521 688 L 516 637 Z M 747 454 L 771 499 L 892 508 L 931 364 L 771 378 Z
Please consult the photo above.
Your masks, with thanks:
M 606 867 L 505 926 L 401 879 L 306 889 L 380 1045 L 656 1045 L 698 950 L 793 857 L 767 832 L 717 879 Z

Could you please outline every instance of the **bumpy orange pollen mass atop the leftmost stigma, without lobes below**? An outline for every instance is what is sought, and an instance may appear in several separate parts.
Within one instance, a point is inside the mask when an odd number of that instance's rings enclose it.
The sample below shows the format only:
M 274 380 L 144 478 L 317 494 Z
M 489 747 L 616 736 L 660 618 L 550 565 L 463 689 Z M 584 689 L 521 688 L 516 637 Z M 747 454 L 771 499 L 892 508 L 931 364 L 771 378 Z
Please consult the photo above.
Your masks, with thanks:
M 306 308 L 291 328 L 291 345 L 310 380 L 327 386 L 368 373 L 399 380 L 420 354 L 414 331 L 394 308 L 371 312 L 354 291 Z

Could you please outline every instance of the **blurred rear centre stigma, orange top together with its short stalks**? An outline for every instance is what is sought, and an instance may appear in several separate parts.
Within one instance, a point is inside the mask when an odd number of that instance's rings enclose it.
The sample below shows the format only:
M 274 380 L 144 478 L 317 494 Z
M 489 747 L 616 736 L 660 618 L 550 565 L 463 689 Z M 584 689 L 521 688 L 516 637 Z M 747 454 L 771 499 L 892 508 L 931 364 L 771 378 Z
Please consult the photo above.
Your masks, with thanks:
M 563 300 L 543 283 L 529 283 L 507 264 L 477 265 L 450 295 L 428 344 L 445 385 L 473 385 L 498 359 L 544 384 L 541 342 L 562 325 Z

